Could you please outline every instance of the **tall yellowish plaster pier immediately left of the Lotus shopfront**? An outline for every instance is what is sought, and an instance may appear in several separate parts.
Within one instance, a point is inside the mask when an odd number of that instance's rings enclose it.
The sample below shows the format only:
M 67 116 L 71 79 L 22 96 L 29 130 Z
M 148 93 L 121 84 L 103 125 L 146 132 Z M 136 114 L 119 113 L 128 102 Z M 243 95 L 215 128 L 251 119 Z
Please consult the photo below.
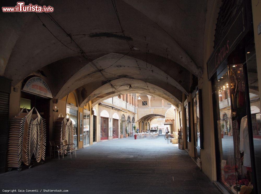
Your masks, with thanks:
M 212 104 L 212 86 L 208 80 L 206 62 L 213 51 L 213 41 L 218 17 L 220 0 L 208 1 L 206 10 L 204 52 L 203 52 L 203 76 L 199 78 L 199 89 L 202 89 L 203 127 L 204 127 L 204 149 L 201 149 L 202 171 L 210 180 L 216 180 L 216 156 L 214 138 L 214 118 Z

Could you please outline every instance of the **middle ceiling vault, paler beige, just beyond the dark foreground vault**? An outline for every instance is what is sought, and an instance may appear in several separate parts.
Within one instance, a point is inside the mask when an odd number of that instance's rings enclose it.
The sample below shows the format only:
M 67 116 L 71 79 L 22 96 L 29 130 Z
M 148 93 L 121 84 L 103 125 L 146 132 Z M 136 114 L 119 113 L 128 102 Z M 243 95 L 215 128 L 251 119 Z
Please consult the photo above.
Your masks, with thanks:
M 118 62 L 115 62 L 119 58 L 121 59 Z M 112 82 L 113 80 L 124 80 L 121 78 L 141 80 L 161 87 L 167 91 L 170 90 L 173 95 L 177 96 L 180 96 L 182 92 L 186 94 L 188 93 L 180 83 L 170 77 L 167 73 L 149 63 L 146 63 L 145 61 L 121 54 L 110 53 L 94 60 L 93 62 L 103 70 L 102 73 L 107 79 L 101 76 L 100 71 L 93 69 L 92 64 L 87 64 L 69 78 L 57 93 L 56 98 L 61 99 L 67 93 L 81 86 L 83 86 L 81 90 L 85 91 L 84 94 L 89 95 L 100 86 L 108 83 L 108 80 L 110 81 L 109 85 L 112 84 L 114 89 L 117 89 L 120 85 L 128 84 Z M 129 84 L 131 84 L 131 82 L 133 81 L 130 81 Z M 177 99 L 180 101 L 180 98 Z

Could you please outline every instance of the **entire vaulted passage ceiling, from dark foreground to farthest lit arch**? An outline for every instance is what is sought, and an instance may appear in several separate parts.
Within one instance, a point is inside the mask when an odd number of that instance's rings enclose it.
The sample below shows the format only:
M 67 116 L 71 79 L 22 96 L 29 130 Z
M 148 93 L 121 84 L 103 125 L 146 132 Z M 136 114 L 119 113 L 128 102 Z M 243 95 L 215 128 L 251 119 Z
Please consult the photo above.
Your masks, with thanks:
M 54 12 L 1 12 L 0 75 L 13 86 L 40 72 L 56 98 L 77 90 L 81 106 L 120 93 L 175 104 L 202 75 L 207 0 L 28 2 Z

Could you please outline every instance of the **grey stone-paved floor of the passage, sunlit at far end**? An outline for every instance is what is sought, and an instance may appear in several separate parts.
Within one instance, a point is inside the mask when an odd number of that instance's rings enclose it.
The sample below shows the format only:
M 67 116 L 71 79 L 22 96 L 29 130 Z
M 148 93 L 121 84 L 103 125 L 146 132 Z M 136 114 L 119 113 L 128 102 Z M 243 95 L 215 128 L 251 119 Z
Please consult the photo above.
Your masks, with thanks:
M 21 172 L 0 174 L 1 192 L 61 189 L 67 193 L 220 193 L 188 153 L 167 144 L 163 136 L 99 142 L 76 154 L 77 158 L 73 154 L 72 159 L 52 159 Z

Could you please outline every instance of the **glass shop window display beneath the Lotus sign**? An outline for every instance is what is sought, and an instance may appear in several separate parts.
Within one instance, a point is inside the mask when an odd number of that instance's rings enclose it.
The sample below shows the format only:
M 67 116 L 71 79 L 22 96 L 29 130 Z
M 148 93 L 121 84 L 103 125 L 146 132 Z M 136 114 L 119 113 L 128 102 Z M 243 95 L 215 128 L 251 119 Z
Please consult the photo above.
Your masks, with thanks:
M 260 169 L 252 168 L 254 159 L 259 168 L 261 150 L 260 134 L 258 135 L 261 125 L 260 100 L 255 58 L 253 41 L 241 43 L 223 62 L 224 69 L 212 78 L 218 139 L 216 146 L 219 150 L 218 178 L 232 193 L 238 193 L 243 186 L 253 189 L 255 177 L 260 181 Z M 248 130 L 249 126 L 252 129 Z M 252 153 L 251 141 L 254 142 Z

